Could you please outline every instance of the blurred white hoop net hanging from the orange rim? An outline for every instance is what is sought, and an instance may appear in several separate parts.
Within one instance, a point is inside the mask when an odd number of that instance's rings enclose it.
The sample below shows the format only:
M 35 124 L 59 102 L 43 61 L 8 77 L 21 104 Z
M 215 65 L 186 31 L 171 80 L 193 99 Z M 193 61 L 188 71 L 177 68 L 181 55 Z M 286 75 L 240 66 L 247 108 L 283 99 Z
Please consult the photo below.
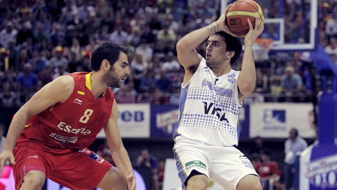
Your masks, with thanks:
M 269 60 L 269 51 L 274 40 L 270 38 L 258 38 L 253 43 L 253 57 L 255 61 Z

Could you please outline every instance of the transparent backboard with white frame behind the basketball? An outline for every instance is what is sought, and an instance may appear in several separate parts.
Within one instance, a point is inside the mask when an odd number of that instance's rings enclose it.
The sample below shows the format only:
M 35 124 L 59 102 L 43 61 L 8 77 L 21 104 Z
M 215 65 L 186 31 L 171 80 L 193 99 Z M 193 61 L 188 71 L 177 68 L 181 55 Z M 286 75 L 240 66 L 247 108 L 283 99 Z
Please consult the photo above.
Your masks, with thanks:
M 235 0 L 221 0 L 221 13 Z M 255 0 L 263 9 L 265 28 L 261 38 L 274 40 L 271 50 L 315 48 L 318 0 Z

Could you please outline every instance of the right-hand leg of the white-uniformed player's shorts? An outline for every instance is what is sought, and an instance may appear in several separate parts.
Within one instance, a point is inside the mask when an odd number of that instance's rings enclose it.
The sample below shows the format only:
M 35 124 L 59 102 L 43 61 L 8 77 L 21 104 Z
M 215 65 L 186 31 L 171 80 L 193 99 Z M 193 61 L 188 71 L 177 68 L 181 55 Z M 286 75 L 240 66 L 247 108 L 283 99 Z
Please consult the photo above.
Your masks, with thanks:
M 235 147 L 211 147 L 212 167 L 210 180 L 225 189 L 236 189 L 245 176 L 258 175 L 250 160 Z

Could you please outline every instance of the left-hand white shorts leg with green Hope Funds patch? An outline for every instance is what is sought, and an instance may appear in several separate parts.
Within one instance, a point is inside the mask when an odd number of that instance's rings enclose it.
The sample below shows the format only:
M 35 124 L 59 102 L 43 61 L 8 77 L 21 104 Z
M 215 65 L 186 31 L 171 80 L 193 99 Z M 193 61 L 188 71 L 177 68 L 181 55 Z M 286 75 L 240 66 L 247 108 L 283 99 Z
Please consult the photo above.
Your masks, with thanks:
M 186 184 L 186 180 L 193 170 L 206 175 L 207 179 L 209 178 L 209 155 L 206 147 L 179 142 L 175 144 L 173 150 L 182 184 Z

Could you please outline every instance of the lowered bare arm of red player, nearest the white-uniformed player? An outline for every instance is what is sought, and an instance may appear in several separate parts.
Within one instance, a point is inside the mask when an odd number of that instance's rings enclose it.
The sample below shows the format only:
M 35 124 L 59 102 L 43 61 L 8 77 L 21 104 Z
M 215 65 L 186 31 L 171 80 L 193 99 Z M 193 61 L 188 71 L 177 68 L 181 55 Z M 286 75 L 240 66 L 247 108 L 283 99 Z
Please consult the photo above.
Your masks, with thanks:
M 111 111 L 111 115 L 109 121 L 106 126 L 104 126 L 104 132 L 106 136 L 107 144 L 109 145 L 109 149 L 111 152 L 111 156 L 113 157 L 118 170 L 124 176 L 128 183 L 128 188 L 130 190 L 136 189 L 136 179 L 135 174 L 133 173 L 132 164 L 129 158 L 129 154 L 126 151 L 122 137 L 118 128 L 118 106 L 116 100 L 114 100 L 113 110 Z

